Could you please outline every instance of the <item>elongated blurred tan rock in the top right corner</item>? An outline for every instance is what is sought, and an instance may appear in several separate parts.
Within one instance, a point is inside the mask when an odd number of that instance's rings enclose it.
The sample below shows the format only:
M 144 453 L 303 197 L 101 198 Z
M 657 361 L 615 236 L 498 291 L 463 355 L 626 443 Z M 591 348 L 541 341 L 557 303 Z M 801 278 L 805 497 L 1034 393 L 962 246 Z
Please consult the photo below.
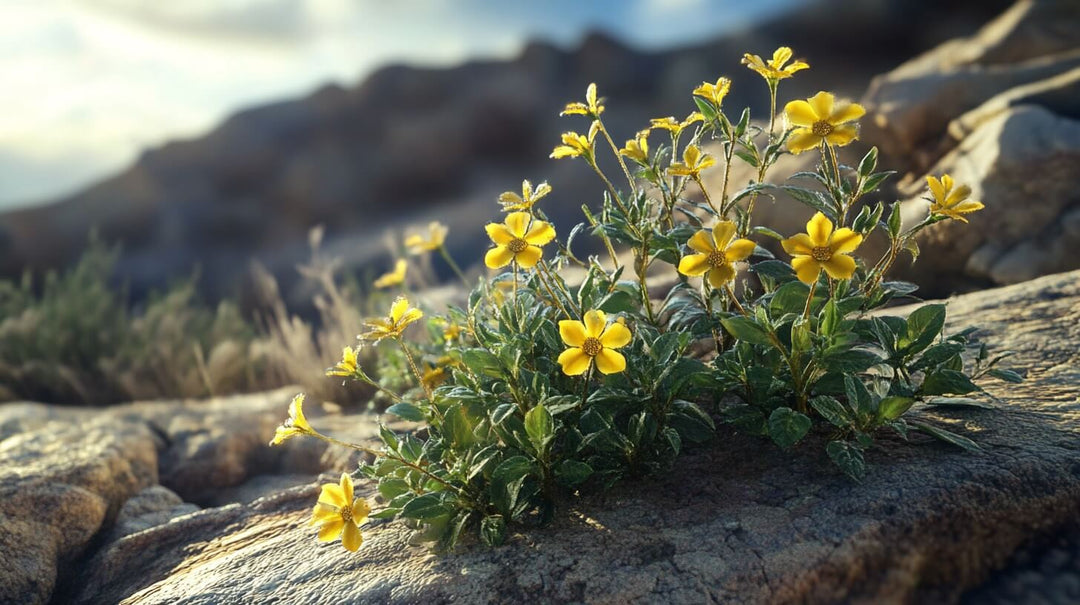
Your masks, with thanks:
M 999 93 L 1080 67 L 1080 4 L 1021 0 L 969 39 L 946 42 L 870 83 L 864 138 L 923 170 L 949 122 Z

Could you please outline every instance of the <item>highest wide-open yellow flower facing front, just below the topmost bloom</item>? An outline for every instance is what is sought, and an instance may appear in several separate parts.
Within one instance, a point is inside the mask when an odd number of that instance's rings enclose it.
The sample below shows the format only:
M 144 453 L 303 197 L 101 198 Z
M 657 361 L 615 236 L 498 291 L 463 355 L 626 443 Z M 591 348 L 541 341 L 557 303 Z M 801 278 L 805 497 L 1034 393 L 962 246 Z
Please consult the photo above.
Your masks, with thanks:
M 858 103 L 843 102 L 834 106 L 835 98 L 824 91 L 806 100 L 793 100 L 784 106 L 787 122 L 798 126 L 787 139 L 792 153 L 801 153 L 822 143 L 843 147 L 859 138 L 859 129 L 849 124 L 862 118 L 866 110 Z

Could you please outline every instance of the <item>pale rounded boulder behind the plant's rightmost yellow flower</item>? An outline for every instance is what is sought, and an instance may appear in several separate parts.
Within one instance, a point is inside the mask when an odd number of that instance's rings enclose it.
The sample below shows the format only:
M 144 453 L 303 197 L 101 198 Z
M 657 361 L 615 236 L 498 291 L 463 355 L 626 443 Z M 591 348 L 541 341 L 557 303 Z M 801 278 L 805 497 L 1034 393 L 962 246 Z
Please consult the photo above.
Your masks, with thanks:
M 986 209 L 970 215 L 968 225 L 948 220 L 928 228 L 919 245 L 935 263 L 917 269 L 897 264 L 896 274 L 941 292 L 1080 268 L 1080 238 L 1069 227 L 1080 211 L 1078 163 L 1080 120 L 1030 105 L 986 119 L 930 171 L 970 184 L 972 199 Z M 923 186 L 907 189 L 906 221 L 926 216 Z

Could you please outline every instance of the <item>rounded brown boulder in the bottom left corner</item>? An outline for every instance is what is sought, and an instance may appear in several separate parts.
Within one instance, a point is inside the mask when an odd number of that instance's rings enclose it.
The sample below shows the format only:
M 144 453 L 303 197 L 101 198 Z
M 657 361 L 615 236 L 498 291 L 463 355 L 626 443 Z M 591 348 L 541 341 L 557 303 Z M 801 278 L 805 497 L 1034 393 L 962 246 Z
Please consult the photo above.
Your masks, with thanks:
M 0 603 L 46 602 L 124 501 L 158 482 L 145 425 L 89 414 L 42 421 L 40 412 L 36 428 L 0 441 Z

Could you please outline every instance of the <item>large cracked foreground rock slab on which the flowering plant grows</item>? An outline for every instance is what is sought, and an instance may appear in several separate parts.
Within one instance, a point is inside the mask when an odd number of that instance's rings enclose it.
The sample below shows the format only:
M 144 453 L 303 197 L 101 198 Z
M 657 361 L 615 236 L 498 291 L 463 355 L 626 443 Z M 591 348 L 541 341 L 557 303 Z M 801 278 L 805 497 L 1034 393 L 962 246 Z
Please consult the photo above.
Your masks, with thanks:
M 1027 375 L 988 386 L 996 411 L 918 411 L 975 439 L 977 454 L 890 440 L 854 484 L 820 442 L 784 453 L 721 429 L 669 473 L 563 508 L 502 548 L 446 556 L 405 547 L 400 523 L 368 524 L 355 554 L 318 543 L 312 483 L 110 544 L 72 601 L 955 602 L 1034 536 L 1080 519 L 1080 272 L 951 299 L 949 318 L 948 331 L 977 326 L 1015 351 Z M 1062 578 L 1010 581 L 1012 602 L 1065 602 Z

